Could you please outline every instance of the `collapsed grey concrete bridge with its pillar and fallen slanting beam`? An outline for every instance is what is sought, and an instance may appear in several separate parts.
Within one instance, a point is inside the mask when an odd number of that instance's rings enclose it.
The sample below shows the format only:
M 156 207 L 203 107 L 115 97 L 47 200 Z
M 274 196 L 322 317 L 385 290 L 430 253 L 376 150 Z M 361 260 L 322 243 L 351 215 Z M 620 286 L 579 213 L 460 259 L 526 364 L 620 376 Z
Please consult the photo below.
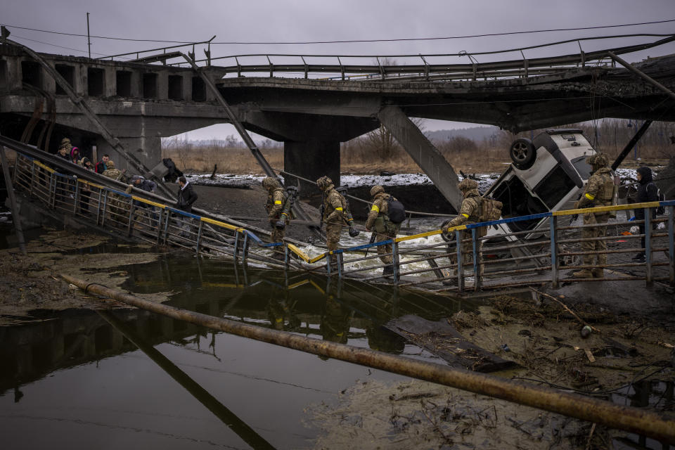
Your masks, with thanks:
M 612 54 L 673 40 L 675 36 L 612 49 Z M 353 67 L 305 64 L 304 79 L 273 76 L 297 70 L 293 65 L 221 67 L 209 60 L 198 70 L 216 84 L 213 92 L 192 68 L 148 63 L 156 58 L 37 56 L 25 47 L 3 44 L 0 132 L 52 153 L 69 136 L 85 151 L 96 148 L 98 156 L 110 153 L 118 161 L 123 156 L 131 171 L 140 172 L 139 167 L 160 161 L 162 137 L 230 122 L 217 101 L 221 96 L 245 129 L 283 141 L 285 170 L 308 179 L 328 174 L 338 181 L 340 143 L 383 124 L 449 202 L 458 205 L 454 169 L 408 117 L 494 124 L 511 131 L 602 117 L 675 120 L 675 55 L 634 65 L 645 75 L 638 77 L 617 68 L 608 54 L 419 67 L 382 66 L 379 60 L 378 65 Z M 173 56 L 165 53 L 163 62 Z M 226 77 L 263 70 L 270 76 Z M 307 77 L 330 71 L 341 71 L 342 77 Z M 372 76 L 354 81 L 345 79 L 345 72 Z M 83 114 L 84 105 L 88 114 Z

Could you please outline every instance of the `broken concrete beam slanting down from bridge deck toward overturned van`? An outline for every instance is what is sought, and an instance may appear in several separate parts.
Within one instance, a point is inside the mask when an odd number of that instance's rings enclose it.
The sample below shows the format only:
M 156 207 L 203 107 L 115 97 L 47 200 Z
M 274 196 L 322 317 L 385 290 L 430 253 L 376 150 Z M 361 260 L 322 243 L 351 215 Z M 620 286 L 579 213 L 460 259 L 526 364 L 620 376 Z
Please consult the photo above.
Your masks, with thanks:
M 378 119 L 394 135 L 455 210 L 462 204 L 455 169 L 398 106 L 385 106 Z

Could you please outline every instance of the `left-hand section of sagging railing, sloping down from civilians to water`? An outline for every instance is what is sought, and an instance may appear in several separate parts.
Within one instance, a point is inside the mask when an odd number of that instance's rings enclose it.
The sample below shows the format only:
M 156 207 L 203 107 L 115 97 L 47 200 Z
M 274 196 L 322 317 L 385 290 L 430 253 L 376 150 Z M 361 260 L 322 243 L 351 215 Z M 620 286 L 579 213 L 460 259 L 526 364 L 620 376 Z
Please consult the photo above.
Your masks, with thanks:
M 63 171 L 65 172 L 65 171 Z M 236 224 L 203 217 L 165 203 L 120 191 L 75 175 L 58 172 L 39 160 L 18 153 L 15 187 L 52 210 L 125 238 L 153 245 L 171 245 L 199 255 L 248 259 L 273 266 L 297 267 L 294 259 L 281 262 L 256 233 Z

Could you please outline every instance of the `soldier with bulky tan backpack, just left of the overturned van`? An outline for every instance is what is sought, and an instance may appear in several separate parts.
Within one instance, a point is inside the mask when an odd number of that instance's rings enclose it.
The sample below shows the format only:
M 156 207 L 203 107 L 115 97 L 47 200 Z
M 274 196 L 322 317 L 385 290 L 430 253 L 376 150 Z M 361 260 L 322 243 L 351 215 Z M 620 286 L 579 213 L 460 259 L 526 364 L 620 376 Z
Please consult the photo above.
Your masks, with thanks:
M 457 185 L 464 200 L 462 200 L 462 205 L 459 208 L 459 214 L 457 217 L 451 221 L 445 222 L 442 225 L 443 229 L 449 229 L 451 226 L 460 226 L 468 224 L 476 224 L 480 221 L 480 210 L 482 206 L 482 197 L 480 192 L 478 192 L 478 183 L 475 180 L 463 179 L 460 184 Z M 487 229 L 484 226 L 476 230 L 477 238 L 482 238 L 487 233 Z M 477 251 L 479 254 L 480 262 L 480 253 L 482 252 L 483 241 L 478 240 Z M 464 269 L 468 268 L 469 264 L 473 264 L 473 240 L 471 238 L 470 231 L 464 231 L 464 236 L 462 238 L 462 267 Z M 482 274 L 483 266 L 480 264 L 479 271 Z M 455 270 L 456 274 L 457 271 Z M 446 280 L 447 281 L 447 280 Z M 454 283 L 454 279 L 449 280 L 449 283 Z M 448 284 L 448 283 L 446 283 Z

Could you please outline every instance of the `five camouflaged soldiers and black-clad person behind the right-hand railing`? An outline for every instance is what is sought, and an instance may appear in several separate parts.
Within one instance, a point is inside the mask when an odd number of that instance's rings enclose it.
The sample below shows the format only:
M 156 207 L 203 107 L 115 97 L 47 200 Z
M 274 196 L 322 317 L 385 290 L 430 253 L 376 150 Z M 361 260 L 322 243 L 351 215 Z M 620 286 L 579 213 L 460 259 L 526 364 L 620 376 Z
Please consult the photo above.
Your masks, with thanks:
M 584 209 L 591 207 L 608 207 L 612 205 L 612 200 L 615 195 L 615 181 L 612 169 L 609 167 L 609 159 L 603 153 L 596 153 L 595 155 L 586 158 L 586 163 L 593 167 L 593 172 L 586 184 L 584 193 L 582 193 L 579 201 L 574 205 L 575 209 Z M 652 177 L 652 171 L 649 167 L 640 167 L 637 171 L 638 187 L 637 187 L 637 202 L 654 202 L 658 200 L 657 186 L 655 186 Z M 267 177 L 262 181 L 262 186 L 268 192 L 268 200 L 266 203 L 266 210 L 268 213 L 269 223 L 272 229 L 271 242 L 281 242 L 284 237 L 284 227 L 279 227 L 278 221 L 283 220 L 288 224 L 290 217 L 288 214 L 282 214 L 282 206 L 285 203 L 286 197 L 284 189 L 276 178 Z M 328 176 L 322 176 L 316 180 L 316 186 L 323 194 L 322 217 L 321 220 L 326 229 L 326 247 L 328 251 L 337 250 L 340 243 L 340 233 L 342 233 L 343 226 L 353 226 L 352 214 L 349 212 L 349 203 L 345 195 L 339 192 L 340 188 L 335 188 L 333 181 Z M 473 179 L 464 179 L 458 184 L 458 188 L 463 195 L 463 201 L 460 207 L 459 214 L 451 221 L 446 221 L 442 224 L 442 229 L 449 229 L 455 226 L 465 224 L 479 223 L 482 214 L 483 197 L 478 191 L 477 181 Z M 390 200 L 395 200 L 392 195 L 385 193 L 383 186 L 373 186 L 371 188 L 371 210 L 368 212 L 366 219 L 366 230 L 374 231 L 375 242 L 382 242 L 385 240 L 392 240 L 396 238 L 399 232 L 400 223 L 394 223 L 389 217 Z M 635 218 L 637 221 L 644 220 L 644 210 L 638 208 L 635 210 Z M 655 209 L 652 210 L 653 218 L 656 217 Z M 581 251 L 583 253 L 583 265 L 586 268 L 574 271 L 572 276 L 574 278 L 604 278 L 604 268 L 607 266 L 607 241 L 605 235 L 607 233 L 607 226 L 603 225 L 608 222 L 610 211 L 600 212 L 586 212 L 584 214 L 584 225 L 587 226 L 581 229 Z M 640 234 L 645 234 L 644 223 L 639 224 Z M 487 234 L 485 227 L 477 229 L 477 250 L 480 255 L 482 252 L 483 240 L 480 239 Z M 372 242 L 372 241 L 371 241 Z M 281 252 L 281 250 L 279 250 Z M 392 245 L 377 246 L 380 260 L 385 264 L 383 269 L 383 276 L 391 276 L 393 274 L 393 255 Z M 462 240 L 461 252 L 463 255 L 462 262 L 464 266 L 473 262 L 473 240 L 470 236 L 466 236 Z M 645 261 L 645 238 L 641 238 L 641 248 L 637 255 L 633 257 L 636 262 Z M 337 263 L 336 255 L 330 255 L 330 263 Z M 480 273 L 482 273 L 482 264 L 479 264 Z M 456 271 L 454 272 L 456 274 Z M 446 280 L 446 284 L 454 283 L 454 279 Z

